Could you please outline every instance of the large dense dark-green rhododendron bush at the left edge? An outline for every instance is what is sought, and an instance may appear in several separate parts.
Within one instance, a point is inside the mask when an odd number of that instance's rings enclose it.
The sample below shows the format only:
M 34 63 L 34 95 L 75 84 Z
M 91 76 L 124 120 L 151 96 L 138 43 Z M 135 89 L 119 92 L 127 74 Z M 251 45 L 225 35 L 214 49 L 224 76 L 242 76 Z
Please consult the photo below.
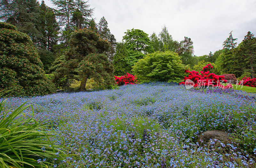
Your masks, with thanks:
M 43 64 L 30 37 L 11 24 L 0 22 L 0 89 L 17 96 L 52 93 Z

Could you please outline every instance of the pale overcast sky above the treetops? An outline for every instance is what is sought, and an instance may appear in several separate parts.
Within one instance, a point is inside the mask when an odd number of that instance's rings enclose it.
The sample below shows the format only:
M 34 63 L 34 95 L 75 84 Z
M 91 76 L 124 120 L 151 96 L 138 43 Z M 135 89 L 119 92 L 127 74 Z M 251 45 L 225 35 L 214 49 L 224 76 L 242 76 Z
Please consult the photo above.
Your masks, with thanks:
M 52 7 L 49 0 L 45 4 Z M 89 0 L 96 23 L 102 16 L 116 40 L 127 29 L 157 35 L 166 25 L 174 40 L 190 37 L 196 56 L 222 49 L 233 30 L 239 44 L 248 31 L 256 34 L 255 0 Z

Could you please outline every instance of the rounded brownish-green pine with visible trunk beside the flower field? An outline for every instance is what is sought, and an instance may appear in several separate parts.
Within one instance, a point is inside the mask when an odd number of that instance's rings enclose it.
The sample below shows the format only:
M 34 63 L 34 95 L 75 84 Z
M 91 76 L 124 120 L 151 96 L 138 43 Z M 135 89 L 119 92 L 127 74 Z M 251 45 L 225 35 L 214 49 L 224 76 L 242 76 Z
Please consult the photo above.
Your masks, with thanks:
M 85 90 L 89 77 L 94 80 L 103 77 L 106 84 L 111 84 L 113 66 L 105 54 L 108 51 L 108 41 L 89 29 L 75 31 L 70 39 L 70 49 L 65 54 L 63 65 L 58 69 L 56 78 L 81 80 L 80 91 Z

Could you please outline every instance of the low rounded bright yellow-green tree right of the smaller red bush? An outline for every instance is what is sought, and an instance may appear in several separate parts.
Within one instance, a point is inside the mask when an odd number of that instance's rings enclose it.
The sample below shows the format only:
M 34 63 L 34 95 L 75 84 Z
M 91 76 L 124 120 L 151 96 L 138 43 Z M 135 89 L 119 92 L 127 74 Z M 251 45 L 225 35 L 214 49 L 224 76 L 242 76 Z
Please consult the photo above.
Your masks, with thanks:
M 168 51 L 147 54 L 134 64 L 132 71 L 141 82 L 180 82 L 187 68 L 177 53 Z

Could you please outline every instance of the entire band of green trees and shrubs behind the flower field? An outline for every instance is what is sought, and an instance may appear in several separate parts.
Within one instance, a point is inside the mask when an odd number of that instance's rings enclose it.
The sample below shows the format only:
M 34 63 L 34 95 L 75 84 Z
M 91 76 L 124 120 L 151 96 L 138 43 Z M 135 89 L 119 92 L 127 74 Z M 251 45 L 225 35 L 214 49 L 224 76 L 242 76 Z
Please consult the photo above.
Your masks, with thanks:
M 0 0 L 1 90 L 43 95 L 75 83 L 84 91 L 88 81 L 108 88 L 114 75 L 127 72 L 144 81 L 179 82 L 184 69 L 200 70 L 208 63 L 218 75 L 255 75 L 256 38 L 251 32 L 238 45 L 230 32 L 223 49 L 197 57 L 191 38 L 174 40 L 165 26 L 151 36 L 128 29 L 117 43 L 104 17 L 95 22 L 88 1 L 52 3 L 56 8 L 44 1 Z

